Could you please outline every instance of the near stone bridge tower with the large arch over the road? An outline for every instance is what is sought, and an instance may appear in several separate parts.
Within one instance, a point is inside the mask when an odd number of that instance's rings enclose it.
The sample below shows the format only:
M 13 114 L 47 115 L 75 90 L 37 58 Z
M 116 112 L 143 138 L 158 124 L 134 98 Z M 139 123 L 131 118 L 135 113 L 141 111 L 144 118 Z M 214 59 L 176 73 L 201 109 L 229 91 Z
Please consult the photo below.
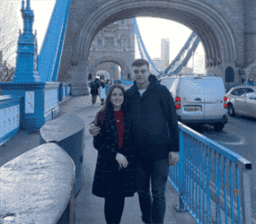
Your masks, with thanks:
M 95 62 L 88 58 L 98 33 L 101 34 L 101 30 L 110 24 L 108 29 L 114 30 L 114 22 L 153 16 L 180 22 L 193 30 L 205 50 L 207 73 L 222 77 L 225 85 L 239 83 L 244 74 L 253 73 L 256 67 L 255 10 L 255 0 L 71 0 L 57 81 L 71 83 L 73 96 L 87 95 L 87 75 L 92 68 L 90 63 Z M 115 37 L 114 44 L 118 45 L 119 36 L 113 33 L 110 31 L 109 37 Z M 111 43 L 112 40 L 108 41 Z M 126 52 L 119 51 L 119 56 L 120 53 Z M 93 69 L 103 62 L 120 65 L 124 61 L 128 71 L 128 59 L 115 54 L 115 51 L 109 51 L 109 56 L 116 58 L 98 59 Z M 118 59 L 119 62 L 114 61 Z M 123 69 L 125 65 L 120 66 Z M 126 76 L 127 72 L 123 75 Z

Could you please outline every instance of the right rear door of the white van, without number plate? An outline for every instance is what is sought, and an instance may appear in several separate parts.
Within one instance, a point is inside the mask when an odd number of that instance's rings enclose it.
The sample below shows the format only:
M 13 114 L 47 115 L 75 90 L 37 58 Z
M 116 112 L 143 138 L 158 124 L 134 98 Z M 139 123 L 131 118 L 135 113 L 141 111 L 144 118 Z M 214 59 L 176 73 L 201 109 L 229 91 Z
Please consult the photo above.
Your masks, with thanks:
M 205 119 L 220 119 L 226 110 L 224 108 L 225 87 L 220 77 L 204 77 Z

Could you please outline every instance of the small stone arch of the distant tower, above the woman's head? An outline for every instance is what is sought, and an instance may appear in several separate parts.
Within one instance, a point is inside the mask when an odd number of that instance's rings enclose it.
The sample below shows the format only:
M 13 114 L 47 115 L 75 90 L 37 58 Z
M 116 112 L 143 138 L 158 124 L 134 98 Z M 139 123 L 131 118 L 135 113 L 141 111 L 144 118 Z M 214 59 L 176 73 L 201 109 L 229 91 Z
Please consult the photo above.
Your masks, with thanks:
M 131 73 L 130 69 L 128 68 L 128 65 L 126 62 L 121 60 L 118 57 L 112 57 L 112 56 L 102 56 L 100 59 L 95 60 L 93 63 L 89 65 L 88 73 L 96 73 L 96 67 L 97 65 L 101 65 L 104 62 L 111 62 L 119 65 L 121 67 L 121 75 L 128 79 L 128 73 Z

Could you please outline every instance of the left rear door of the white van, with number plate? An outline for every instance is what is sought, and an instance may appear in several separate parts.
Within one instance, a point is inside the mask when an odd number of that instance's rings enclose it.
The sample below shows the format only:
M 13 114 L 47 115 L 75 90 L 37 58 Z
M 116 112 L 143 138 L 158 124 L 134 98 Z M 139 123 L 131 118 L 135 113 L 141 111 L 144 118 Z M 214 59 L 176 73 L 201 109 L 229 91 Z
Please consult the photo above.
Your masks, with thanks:
M 182 77 L 178 96 L 181 97 L 181 118 L 199 121 L 204 119 L 204 94 L 202 79 Z

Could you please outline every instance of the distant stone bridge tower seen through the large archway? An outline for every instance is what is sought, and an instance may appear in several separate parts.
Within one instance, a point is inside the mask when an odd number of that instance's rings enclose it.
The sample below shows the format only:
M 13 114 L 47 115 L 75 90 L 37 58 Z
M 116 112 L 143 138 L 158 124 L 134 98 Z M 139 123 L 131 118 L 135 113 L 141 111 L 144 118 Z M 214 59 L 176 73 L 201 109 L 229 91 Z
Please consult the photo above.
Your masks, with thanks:
M 105 70 L 110 79 L 120 79 L 118 65 L 124 80 L 131 74 L 131 64 L 135 59 L 135 32 L 132 19 L 111 23 L 94 37 L 90 47 L 87 73 L 93 75 Z

